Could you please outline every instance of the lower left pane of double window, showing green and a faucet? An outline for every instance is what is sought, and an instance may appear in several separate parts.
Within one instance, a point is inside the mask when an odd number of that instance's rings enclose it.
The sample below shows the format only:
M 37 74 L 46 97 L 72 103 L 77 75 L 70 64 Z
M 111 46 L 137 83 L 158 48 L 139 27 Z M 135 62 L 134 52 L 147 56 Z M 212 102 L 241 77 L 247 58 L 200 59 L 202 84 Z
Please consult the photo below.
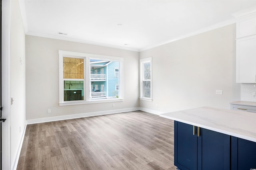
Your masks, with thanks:
M 84 81 L 64 80 L 64 101 L 84 100 Z

